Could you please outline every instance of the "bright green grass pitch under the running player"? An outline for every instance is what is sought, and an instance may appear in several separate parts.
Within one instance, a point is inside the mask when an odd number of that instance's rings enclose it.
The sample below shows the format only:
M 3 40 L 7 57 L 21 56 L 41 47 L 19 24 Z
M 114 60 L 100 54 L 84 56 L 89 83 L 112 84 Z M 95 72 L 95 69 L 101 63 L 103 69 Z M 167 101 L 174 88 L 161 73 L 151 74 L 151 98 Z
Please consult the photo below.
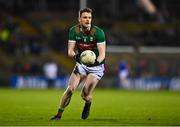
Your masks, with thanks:
M 95 89 L 91 114 L 75 91 L 61 121 L 55 115 L 63 90 L 0 89 L 1 126 L 171 126 L 180 125 L 180 92 Z

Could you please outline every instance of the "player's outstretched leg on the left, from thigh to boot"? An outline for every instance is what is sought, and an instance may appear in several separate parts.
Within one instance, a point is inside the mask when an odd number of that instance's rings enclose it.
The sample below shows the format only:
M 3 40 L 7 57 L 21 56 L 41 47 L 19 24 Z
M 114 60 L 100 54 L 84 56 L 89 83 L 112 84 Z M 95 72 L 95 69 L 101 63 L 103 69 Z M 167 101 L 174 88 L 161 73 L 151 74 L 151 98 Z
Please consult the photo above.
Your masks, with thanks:
M 80 80 L 81 80 L 80 74 L 77 73 L 76 70 L 74 70 L 69 78 L 68 87 L 61 98 L 58 112 L 53 118 L 51 118 L 51 120 L 54 119 L 58 120 L 61 118 L 64 108 L 68 106 L 71 100 L 71 96 L 75 91 L 75 89 L 77 88 L 77 86 L 79 85 Z

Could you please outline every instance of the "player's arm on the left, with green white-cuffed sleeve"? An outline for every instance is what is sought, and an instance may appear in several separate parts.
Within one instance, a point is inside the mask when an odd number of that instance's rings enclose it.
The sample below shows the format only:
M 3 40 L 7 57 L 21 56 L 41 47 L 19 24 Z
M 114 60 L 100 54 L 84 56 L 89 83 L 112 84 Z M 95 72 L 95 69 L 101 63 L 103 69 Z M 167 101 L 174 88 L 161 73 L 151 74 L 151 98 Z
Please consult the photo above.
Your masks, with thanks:
M 75 31 L 74 28 L 72 27 L 69 31 L 68 56 L 74 57 L 76 55 L 75 46 L 76 46 Z

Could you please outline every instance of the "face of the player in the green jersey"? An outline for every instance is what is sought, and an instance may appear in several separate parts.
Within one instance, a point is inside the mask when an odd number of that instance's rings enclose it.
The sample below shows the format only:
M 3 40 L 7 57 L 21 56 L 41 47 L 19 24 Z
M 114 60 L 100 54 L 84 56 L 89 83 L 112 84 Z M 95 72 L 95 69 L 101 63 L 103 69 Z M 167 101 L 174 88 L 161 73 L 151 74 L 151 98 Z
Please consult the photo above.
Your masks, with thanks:
M 89 28 L 91 26 L 92 14 L 84 12 L 79 17 L 79 22 L 84 28 Z

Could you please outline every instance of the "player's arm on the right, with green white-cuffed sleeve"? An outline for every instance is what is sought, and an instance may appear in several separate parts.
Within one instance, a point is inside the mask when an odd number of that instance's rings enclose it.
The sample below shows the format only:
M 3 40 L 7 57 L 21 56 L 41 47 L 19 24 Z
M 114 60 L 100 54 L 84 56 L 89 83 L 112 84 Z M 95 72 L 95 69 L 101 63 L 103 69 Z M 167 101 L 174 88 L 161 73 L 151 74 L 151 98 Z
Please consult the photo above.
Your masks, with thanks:
M 99 52 L 97 61 L 101 63 L 105 59 L 105 55 L 106 55 L 106 41 L 105 41 L 105 34 L 103 30 L 100 30 L 98 32 L 97 49 Z

